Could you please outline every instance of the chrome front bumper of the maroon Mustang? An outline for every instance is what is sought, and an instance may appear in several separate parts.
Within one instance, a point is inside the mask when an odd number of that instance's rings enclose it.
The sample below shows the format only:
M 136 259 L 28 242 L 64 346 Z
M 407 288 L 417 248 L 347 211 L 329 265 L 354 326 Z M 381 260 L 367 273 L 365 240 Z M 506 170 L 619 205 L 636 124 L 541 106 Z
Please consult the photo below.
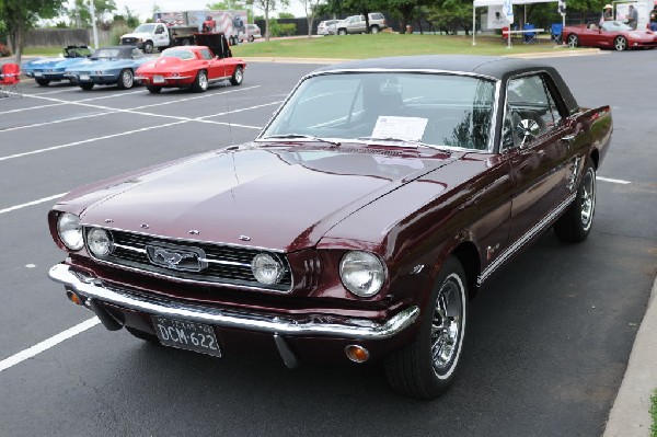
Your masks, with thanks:
M 172 302 L 153 297 L 134 295 L 127 290 L 110 289 L 100 279 L 76 274 L 72 267 L 67 264 L 55 265 L 50 268 L 48 275 L 50 279 L 64 284 L 65 287 L 84 298 L 93 298 L 102 302 L 154 315 L 278 335 L 383 340 L 399 334 L 413 324 L 419 315 L 419 308 L 413 306 L 402 310 L 384 323 L 377 323 L 367 319 L 337 317 L 331 317 L 331 320 L 322 320 L 321 315 L 292 319 L 289 317 L 256 314 Z

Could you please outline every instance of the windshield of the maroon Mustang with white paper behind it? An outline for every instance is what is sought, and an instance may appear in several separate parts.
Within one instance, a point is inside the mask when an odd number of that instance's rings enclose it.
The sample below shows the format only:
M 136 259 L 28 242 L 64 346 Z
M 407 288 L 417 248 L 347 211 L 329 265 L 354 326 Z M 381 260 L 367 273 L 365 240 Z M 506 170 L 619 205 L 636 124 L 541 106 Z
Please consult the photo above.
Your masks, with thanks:
M 495 82 L 457 74 L 351 72 L 303 81 L 258 137 L 406 140 L 486 150 Z

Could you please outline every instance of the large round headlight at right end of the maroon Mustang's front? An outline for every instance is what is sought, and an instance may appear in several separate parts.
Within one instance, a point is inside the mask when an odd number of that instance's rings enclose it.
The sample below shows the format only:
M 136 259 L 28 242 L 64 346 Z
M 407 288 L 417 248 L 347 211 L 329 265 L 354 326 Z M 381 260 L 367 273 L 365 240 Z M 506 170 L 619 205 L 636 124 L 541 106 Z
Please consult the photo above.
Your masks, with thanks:
M 339 277 L 356 296 L 369 298 L 383 286 L 385 271 L 381 260 L 369 252 L 347 252 L 339 263 Z

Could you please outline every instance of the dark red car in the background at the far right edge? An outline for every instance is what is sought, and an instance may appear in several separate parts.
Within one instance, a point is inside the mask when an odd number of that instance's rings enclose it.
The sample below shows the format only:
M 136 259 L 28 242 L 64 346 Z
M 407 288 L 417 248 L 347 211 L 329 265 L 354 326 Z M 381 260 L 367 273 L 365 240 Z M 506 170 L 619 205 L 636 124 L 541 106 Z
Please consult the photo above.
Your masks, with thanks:
M 597 24 L 566 26 L 562 38 L 570 47 L 614 48 L 619 51 L 631 48 L 653 48 L 657 46 L 657 35 L 652 31 L 633 31 L 620 21 L 604 21 Z

